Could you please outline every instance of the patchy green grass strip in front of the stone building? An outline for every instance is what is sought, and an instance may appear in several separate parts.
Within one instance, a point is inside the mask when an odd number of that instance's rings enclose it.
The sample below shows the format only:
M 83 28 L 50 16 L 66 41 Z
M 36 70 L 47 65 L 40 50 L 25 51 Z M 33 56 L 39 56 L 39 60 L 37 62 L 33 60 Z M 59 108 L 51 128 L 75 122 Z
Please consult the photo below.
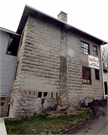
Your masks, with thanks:
M 93 117 L 87 109 L 42 112 L 20 119 L 5 119 L 8 134 L 59 134 Z

